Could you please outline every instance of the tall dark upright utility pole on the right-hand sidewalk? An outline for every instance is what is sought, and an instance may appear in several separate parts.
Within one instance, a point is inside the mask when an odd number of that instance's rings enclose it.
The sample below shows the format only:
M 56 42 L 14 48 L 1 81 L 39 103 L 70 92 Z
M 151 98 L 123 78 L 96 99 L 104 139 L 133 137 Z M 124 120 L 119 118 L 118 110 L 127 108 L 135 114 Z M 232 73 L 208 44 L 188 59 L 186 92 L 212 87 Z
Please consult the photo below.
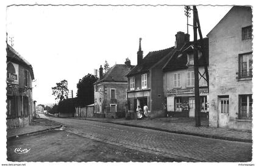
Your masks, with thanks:
M 194 32 L 194 117 L 196 119 L 196 127 L 201 126 L 200 119 L 200 95 L 199 95 L 199 71 L 198 71 L 198 52 L 197 52 L 197 9 L 193 5 L 193 32 Z

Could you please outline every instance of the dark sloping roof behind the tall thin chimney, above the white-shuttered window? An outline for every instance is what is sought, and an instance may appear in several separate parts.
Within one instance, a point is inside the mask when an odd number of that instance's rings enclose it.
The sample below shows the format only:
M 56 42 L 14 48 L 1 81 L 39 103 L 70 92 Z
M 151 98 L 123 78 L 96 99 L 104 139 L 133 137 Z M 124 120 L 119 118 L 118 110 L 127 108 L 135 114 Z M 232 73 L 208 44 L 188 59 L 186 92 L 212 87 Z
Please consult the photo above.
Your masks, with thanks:
M 143 58 L 142 63 L 137 64 L 137 66 L 133 67 L 132 71 L 130 71 L 127 76 L 149 71 L 149 69 L 154 66 L 154 64 L 158 63 L 158 61 L 166 57 L 166 55 L 168 55 L 169 52 L 171 52 L 172 50 L 174 50 L 174 47 L 149 52 L 149 54 Z

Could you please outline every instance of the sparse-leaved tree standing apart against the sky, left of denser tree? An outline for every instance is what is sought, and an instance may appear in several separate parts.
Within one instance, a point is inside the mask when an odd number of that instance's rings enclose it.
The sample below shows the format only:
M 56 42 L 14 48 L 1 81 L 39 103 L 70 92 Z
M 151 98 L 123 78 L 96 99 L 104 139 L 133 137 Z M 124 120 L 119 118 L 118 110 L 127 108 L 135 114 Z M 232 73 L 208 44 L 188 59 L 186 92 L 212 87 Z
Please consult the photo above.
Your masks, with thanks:
M 56 86 L 52 88 L 52 95 L 55 95 L 55 100 L 59 100 L 59 102 L 68 99 L 68 81 L 62 80 L 60 83 L 56 83 Z

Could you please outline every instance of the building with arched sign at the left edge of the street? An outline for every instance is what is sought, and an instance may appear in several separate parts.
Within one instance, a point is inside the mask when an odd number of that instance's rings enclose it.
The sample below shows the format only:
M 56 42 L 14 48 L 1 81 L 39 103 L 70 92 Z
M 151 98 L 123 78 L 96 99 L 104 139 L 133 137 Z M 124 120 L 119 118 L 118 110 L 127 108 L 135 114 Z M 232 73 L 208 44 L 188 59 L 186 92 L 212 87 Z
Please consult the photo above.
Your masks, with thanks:
M 29 125 L 35 111 L 32 66 L 7 44 L 7 128 Z

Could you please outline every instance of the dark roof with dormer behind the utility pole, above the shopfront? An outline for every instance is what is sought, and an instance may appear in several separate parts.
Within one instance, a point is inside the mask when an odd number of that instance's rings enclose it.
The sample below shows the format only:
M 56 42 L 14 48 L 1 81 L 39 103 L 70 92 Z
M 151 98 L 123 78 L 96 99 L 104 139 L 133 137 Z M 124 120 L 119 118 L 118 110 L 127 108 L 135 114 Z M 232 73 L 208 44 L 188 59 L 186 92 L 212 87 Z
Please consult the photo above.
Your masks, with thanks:
M 187 67 L 187 52 L 193 52 L 193 49 L 191 47 L 191 44 L 193 44 L 193 41 L 190 41 L 190 43 L 187 43 L 185 46 L 182 47 L 182 50 L 178 50 L 175 52 L 174 55 L 172 55 L 172 58 L 167 61 L 165 66 L 163 67 L 163 71 L 172 71 L 177 69 L 183 69 Z M 205 55 L 207 64 L 209 63 L 209 49 L 208 49 L 208 38 L 203 39 L 203 48 L 202 50 L 203 54 Z M 201 57 L 199 57 L 198 60 L 199 65 L 204 65 L 204 60 Z

